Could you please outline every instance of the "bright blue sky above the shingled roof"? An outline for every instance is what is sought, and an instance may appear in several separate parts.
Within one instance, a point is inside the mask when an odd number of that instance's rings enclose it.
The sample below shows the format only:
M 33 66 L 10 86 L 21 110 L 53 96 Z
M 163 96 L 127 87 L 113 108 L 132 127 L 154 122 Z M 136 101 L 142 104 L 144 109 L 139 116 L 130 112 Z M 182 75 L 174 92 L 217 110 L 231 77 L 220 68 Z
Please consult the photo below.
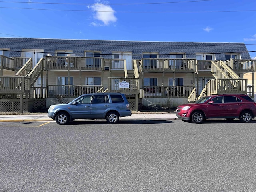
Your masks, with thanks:
M 0 36 L 244 42 L 256 59 L 255 0 L 0 0 Z

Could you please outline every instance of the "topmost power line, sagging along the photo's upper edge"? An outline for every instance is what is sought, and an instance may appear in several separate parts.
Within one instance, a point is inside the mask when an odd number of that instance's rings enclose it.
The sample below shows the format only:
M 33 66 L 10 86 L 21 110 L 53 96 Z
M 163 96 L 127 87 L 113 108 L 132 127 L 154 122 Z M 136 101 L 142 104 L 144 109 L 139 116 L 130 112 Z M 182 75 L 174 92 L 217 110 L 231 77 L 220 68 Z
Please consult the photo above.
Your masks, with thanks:
M 159 2 L 159 3 L 113 3 L 106 5 L 146 5 L 146 4 L 173 4 L 173 3 L 188 3 L 188 2 L 203 2 L 212 0 L 194 0 L 194 1 L 178 1 L 178 2 Z M 0 1 L 3 3 L 26 3 L 26 4 L 58 4 L 58 5 L 95 5 L 95 3 L 48 3 L 48 2 L 16 2 L 16 1 Z M 99 3 L 102 4 L 102 3 Z

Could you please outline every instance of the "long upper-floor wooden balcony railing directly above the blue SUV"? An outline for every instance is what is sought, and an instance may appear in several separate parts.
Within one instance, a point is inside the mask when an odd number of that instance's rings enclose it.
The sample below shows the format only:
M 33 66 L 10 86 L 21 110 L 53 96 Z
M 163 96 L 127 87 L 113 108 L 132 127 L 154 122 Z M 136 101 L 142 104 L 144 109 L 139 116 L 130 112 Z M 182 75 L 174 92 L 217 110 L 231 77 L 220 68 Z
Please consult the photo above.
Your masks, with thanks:
M 103 70 L 102 57 L 46 56 L 46 70 Z

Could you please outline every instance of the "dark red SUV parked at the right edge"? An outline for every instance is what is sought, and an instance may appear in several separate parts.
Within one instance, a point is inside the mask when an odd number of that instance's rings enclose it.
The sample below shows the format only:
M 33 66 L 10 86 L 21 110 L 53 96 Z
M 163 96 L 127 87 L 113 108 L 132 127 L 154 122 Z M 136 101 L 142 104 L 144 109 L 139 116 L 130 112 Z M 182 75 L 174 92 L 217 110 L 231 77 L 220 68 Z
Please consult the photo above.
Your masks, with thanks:
M 187 121 L 191 119 L 194 123 L 210 118 L 225 118 L 228 121 L 239 118 L 241 122 L 249 123 L 256 116 L 256 103 L 244 94 L 210 95 L 178 106 L 176 116 Z

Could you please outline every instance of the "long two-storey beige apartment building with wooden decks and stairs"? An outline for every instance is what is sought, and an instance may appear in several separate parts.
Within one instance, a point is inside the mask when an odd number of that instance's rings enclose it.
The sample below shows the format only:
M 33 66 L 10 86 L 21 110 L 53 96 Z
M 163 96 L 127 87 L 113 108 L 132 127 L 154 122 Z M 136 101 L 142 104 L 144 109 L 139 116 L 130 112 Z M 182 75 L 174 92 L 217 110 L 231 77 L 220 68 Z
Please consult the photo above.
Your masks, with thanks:
M 254 98 L 255 60 L 244 43 L 0 38 L 0 55 L 2 111 L 48 108 L 92 92 L 122 92 L 132 110 L 209 94 Z

